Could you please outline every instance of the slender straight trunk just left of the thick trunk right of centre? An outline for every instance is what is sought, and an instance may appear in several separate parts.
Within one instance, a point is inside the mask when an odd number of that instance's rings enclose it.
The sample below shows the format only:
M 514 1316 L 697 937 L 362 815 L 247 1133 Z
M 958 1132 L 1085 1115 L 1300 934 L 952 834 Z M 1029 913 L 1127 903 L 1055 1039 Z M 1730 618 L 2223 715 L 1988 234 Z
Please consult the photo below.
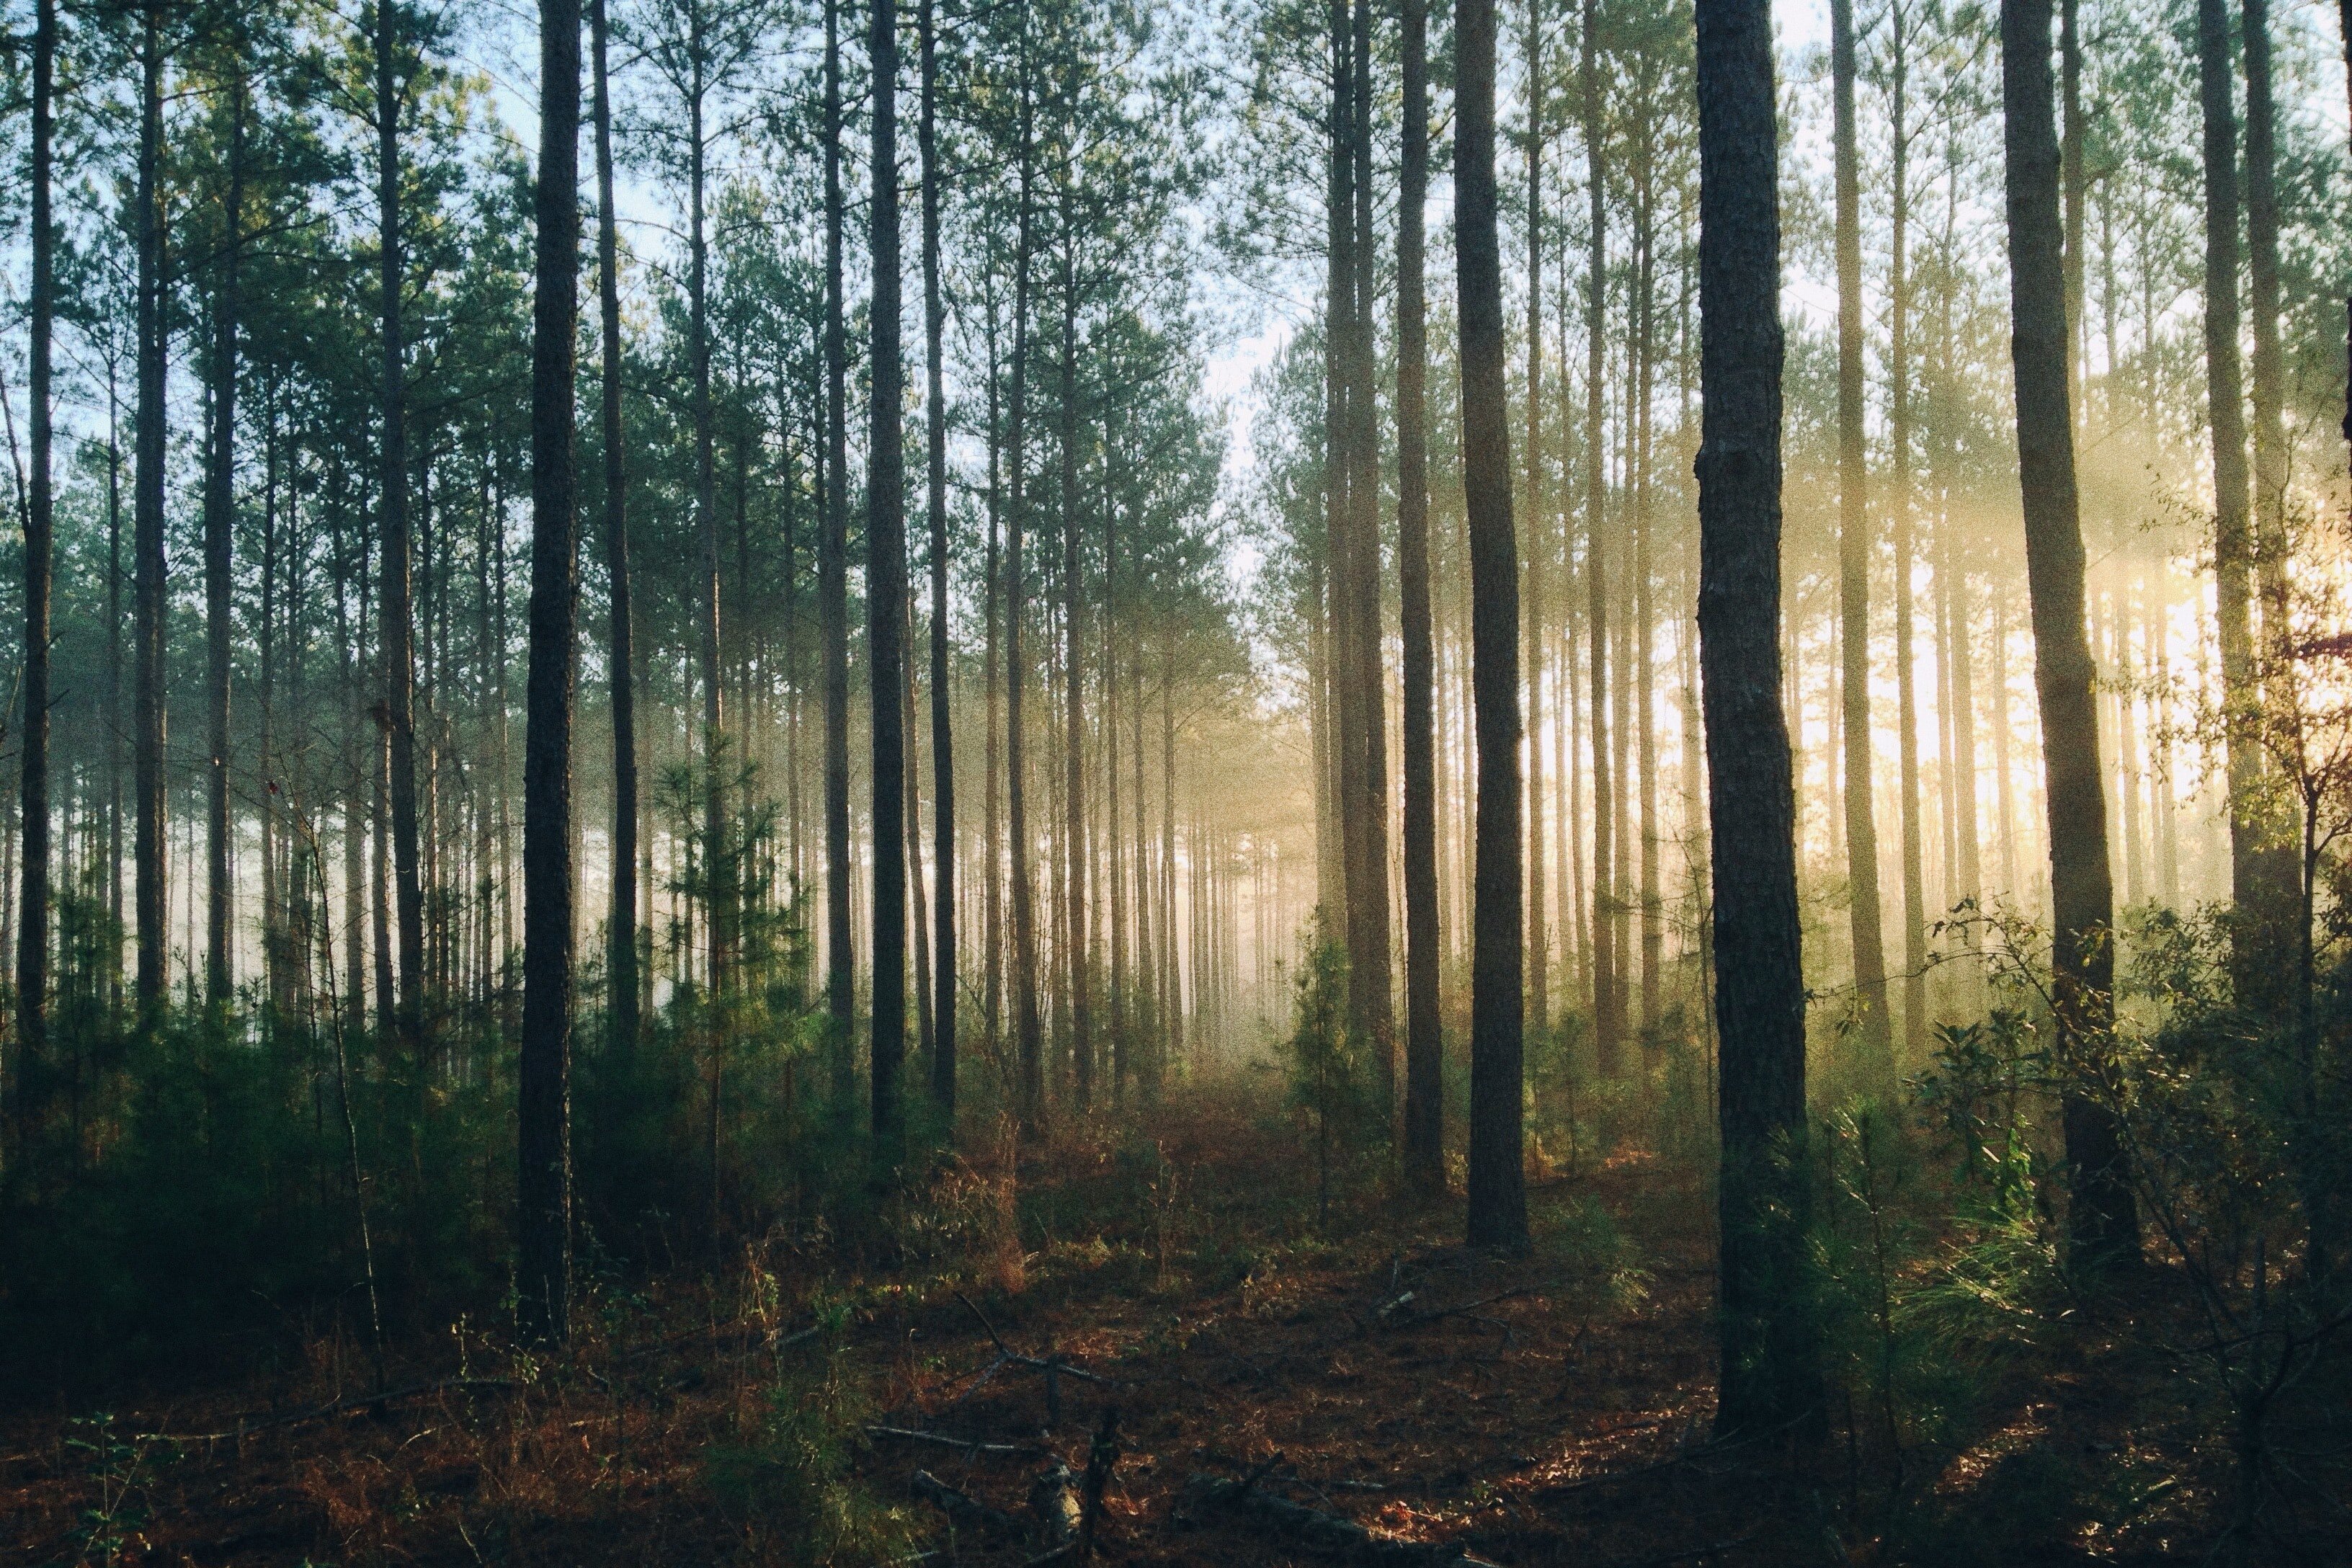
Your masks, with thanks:
M 1444 1190 L 1444 1018 L 1437 1006 L 1437 677 L 1430 616 L 1428 322 L 1421 212 L 1430 183 L 1428 0 L 1404 0 L 1397 169 L 1397 590 L 1404 635 L 1404 1180 Z M 1141 783 L 1138 783 L 1141 806 Z M 1562 827 L 1566 832 L 1566 827 Z

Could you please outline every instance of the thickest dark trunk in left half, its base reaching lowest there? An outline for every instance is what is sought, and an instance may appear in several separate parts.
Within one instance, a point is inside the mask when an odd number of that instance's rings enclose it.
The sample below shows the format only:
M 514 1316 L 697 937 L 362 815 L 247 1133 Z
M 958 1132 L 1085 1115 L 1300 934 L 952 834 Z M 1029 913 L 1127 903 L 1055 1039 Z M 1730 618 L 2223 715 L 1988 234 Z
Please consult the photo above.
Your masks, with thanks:
M 602 28 L 597 45 L 602 47 Z M 515 1095 L 522 1145 L 515 1199 L 522 1213 L 515 1284 L 522 1333 L 546 1342 L 564 1340 L 572 1328 L 572 686 L 579 665 L 572 357 L 581 270 L 579 129 L 581 7 L 579 0 L 539 0 L 532 654 L 522 750 L 522 1058 Z M 607 188 L 607 202 L 609 195 Z

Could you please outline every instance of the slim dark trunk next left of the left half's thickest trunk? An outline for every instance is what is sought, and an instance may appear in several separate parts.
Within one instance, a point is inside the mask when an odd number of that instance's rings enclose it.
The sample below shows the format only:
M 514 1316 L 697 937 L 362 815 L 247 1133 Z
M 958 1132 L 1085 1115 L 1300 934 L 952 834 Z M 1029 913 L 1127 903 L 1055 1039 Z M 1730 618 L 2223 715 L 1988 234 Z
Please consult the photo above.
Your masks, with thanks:
M 400 997 L 393 1009 L 409 1060 L 428 1067 L 423 1039 L 426 898 L 416 860 L 416 625 L 409 602 L 409 437 L 407 346 L 402 339 L 400 259 L 400 110 L 405 92 L 393 71 L 397 5 L 376 0 L 376 223 L 381 235 L 379 294 L 383 313 L 383 733 L 390 745 L 386 785 L 393 816 L 393 903 L 400 922 Z

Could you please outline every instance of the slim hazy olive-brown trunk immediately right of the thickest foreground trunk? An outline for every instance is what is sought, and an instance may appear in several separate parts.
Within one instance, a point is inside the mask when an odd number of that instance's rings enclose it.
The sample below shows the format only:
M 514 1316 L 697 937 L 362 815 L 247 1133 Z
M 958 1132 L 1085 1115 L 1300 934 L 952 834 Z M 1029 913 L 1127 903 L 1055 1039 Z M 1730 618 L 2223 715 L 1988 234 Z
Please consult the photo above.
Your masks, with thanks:
M 1830 71 L 1837 96 L 1837 599 L 1844 654 L 1846 886 L 1853 990 L 1863 1006 L 1860 1070 L 1865 1081 L 1891 1084 L 1879 830 L 1870 799 L 1870 498 L 1863 447 L 1863 186 L 1853 148 L 1853 0 L 1830 0 Z M 1896 578 L 1896 599 L 1905 592 L 1905 583 Z

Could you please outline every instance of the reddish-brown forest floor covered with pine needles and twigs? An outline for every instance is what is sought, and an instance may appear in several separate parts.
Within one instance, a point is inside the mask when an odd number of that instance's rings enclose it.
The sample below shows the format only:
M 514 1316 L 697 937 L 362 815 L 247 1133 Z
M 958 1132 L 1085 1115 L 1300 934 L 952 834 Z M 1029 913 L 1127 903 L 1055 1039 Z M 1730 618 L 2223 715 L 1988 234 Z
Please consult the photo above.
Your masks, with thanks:
M 898 1544 L 833 1561 L 1075 1561 L 1030 1493 L 1087 1469 L 1110 1408 L 1105 1563 L 2117 1563 L 2209 1540 L 2211 1465 L 2145 1335 L 1992 1375 L 1940 1441 L 1896 1450 L 1844 1408 L 1813 1453 L 1722 1446 L 1691 1173 L 1548 1175 L 1534 1251 L 1498 1260 L 1456 1241 L 1458 1199 L 1359 1194 L 1317 1225 L 1310 1143 L 1242 1100 L 1152 1126 L 1023 1152 L 1018 1239 L 990 1232 L 1014 1192 L 967 1168 L 894 1267 L 771 1244 L 727 1288 L 597 1293 L 555 1361 L 461 1324 L 383 1403 L 346 1342 L 268 1382 L 125 1392 L 111 1425 L 16 1410 L 0 1561 L 790 1563 L 882 1505 Z M 976 1512 L 950 1523 L 915 1472 Z

